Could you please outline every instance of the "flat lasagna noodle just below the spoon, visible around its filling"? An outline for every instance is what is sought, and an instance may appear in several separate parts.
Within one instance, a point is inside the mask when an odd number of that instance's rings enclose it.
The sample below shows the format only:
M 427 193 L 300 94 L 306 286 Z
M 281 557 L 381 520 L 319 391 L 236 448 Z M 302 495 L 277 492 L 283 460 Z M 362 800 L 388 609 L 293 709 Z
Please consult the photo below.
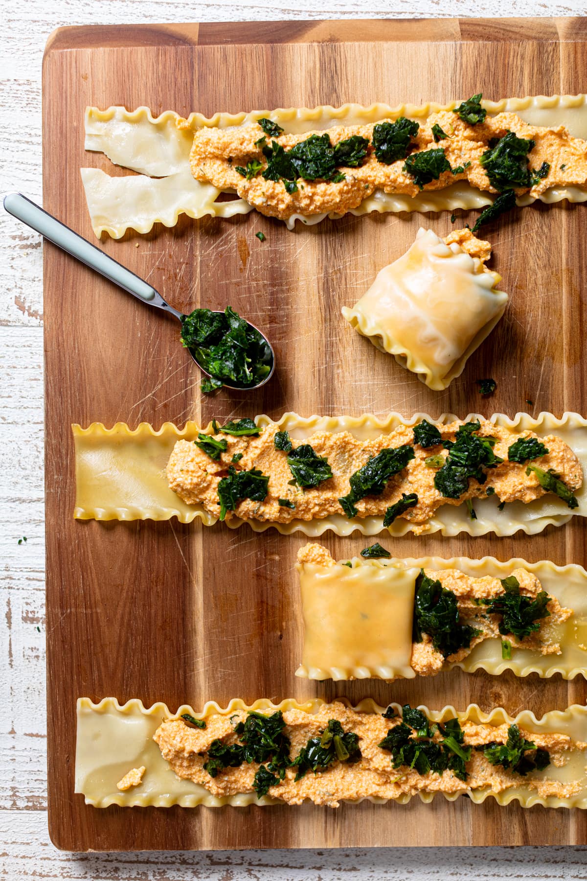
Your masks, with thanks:
M 430 422 L 447 423 L 457 417 L 444 413 L 433 420 L 425 413 L 416 413 L 411 419 L 398 413 L 379 419 L 375 416 L 359 418 L 319 417 L 308 418 L 296 413 L 285 413 L 277 425 L 289 431 L 294 440 L 304 440 L 317 431 L 348 431 L 360 440 L 377 438 L 390 433 L 400 424 L 412 426 L 428 419 Z M 470 414 L 466 419 L 476 418 Z M 539 435 L 555 434 L 574 450 L 581 462 L 583 475 L 587 478 L 587 420 L 577 413 L 565 413 L 561 419 L 551 413 L 540 413 L 532 418 L 527 413 L 517 413 L 513 419 L 495 414 L 489 421 L 509 428 L 513 433 L 532 431 Z M 260 426 L 275 425 L 267 416 L 259 416 Z M 206 526 L 216 523 L 202 506 L 187 505 L 170 490 L 165 478 L 165 466 L 175 441 L 194 441 L 200 426 L 187 422 L 182 429 L 165 422 L 156 431 L 143 422 L 131 430 L 119 422 L 113 428 L 92 423 L 88 428 L 72 426 L 76 446 L 77 499 L 74 516 L 80 520 L 170 520 L 176 516 L 182 523 L 200 518 Z M 209 426 L 210 428 L 210 426 Z M 527 535 L 535 535 L 549 525 L 561 526 L 572 515 L 587 515 L 587 479 L 576 492 L 579 507 L 572 513 L 566 503 L 552 493 L 528 504 L 511 502 L 503 511 L 497 509 L 498 500 L 486 497 L 475 500 L 477 520 L 471 520 L 465 504 L 444 505 L 437 509 L 428 526 L 426 535 L 441 532 L 444 536 L 456 536 L 466 532 L 470 536 L 482 536 L 495 532 L 498 536 L 511 536 L 518 529 Z M 231 518 L 227 526 L 237 529 L 243 523 L 238 517 Z M 342 514 L 329 515 L 321 520 L 292 520 L 289 523 L 271 523 L 249 520 L 251 529 L 264 532 L 275 527 L 283 535 L 303 532 L 309 537 L 321 536 L 327 529 L 336 535 L 349 536 L 357 529 L 363 536 L 377 535 L 384 529 L 382 516 L 369 516 L 361 520 L 348 520 Z M 395 520 L 388 531 L 393 536 L 403 536 L 413 529 L 405 518 Z

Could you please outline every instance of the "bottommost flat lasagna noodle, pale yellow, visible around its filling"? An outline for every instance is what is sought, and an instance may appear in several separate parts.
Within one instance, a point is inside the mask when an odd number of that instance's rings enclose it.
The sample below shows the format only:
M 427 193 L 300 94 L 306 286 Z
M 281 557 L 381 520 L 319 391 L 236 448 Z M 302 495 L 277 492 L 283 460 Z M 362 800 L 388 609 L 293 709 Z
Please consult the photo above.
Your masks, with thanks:
M 348 700 L 342 700 L 347 706 Z M 152 707 L 143 707 L 141 700 L 128 700 L 126 704 L 119 704 L 115 698 L 104 698 L 98 704 L 92 703 L 89 698 L 77 700 L 77 745 L 76 745 L 76 787 L 75 791 L 84 795 L 85 803 L 92 804 L 95 808 L 107 808 L 111 804 L 121 807 L 147 807 L 159 808 L 171 807 L 179 804 L 181 807 L 193 808 L 204 804 L 207 807 L 222 807 L 230 804 L 233 807 L 245 807 L 248 804 L 269 805 L 278 802 L 270 796 L 258 799 L 254 793 L 246 793 L 236 796 L 223 796 L 218 798 L 210 795 L 208 790 L 198 786 L 192 781 L 180 779 L 172 772 L 171 766 L 163 759 L 152 737 L 158 726 L 165 719 L 179 719 L 182 713 L 189 713 L 199 718 L 207 718 L 213 714 L 230 715 L 238 710 L 259 710 L 260 712 L 275 712 L 275 710 L 298 709 L 305 713 L 316 713 L 324 703 L 315 698 L 305 704 L 298 704 L 296 700 L 282 700 L 280 704 L 273 704 L 269 700 L 256 700 L 248 706 L 242 700 L 233 699 L 224 709 L 214 701 L 205 704 L 202 713 L 194 713 L 192 707 L 183 705 L 176 714 L 172 714 L 164 703 L 153 704 Z M 401 707 L 392 705 L 396 712 Z M 352 707 L 357 712 L 383 713 L 385 707 L 379 707 L 371 699 L 362 700 L 358 706 Z M 511 718 L 502 707 L 495 708 L 491 713 L 483 713 L 476 704 L 471 704 L 462 713 L 457 714 L 454 707 L 444 707 L 442 710 L 430 711 L 427 707 L 420 707 L 434 722 L 443 722 L 444 719 L 458 715 L 459 721 L 471 721 L 477 724 L 517 723 L 525 730 L 534 733 L 559 733 L 568 735 L 571 740 L 581 741 L 584 738 L 585 725 L 587 724 L 587 707 L 573 705 L 569 709 L 560 712 L 554 710 L 537 719 L 529 710 L 524 710 Z M 140 786 L 121 792 L 116 788 L 117 781 L 121 780 L 128 769 L 133 766 L 145 766 L 146 772 Z M 515 789 L 508 789 L 494 794 L 490 789 L 476 789 L 468 793 L 471 800 L 481 804 L 488 796 L 493 796 L 500 805 L 517 801 L 524 808 L 530 808 L 535 804 L 541 804 L 548 808 L 587 808 L 587 778 L 585 776 L 585 756 L 582 751 L 572 751 L 569 761 L 562 767 L 551 766 L 549 774 L 558 781 L 583 781 L 583 787 L 574 796 L 559 798 L 539 796 L 535 791 L 524 785 L 523 779 Z M 429 803 L 434 798 L 434 793 L 418 793 L 422 802 Z M 448 801 L 455 801 L 461 793 L 443 793 Z M 385 803 L 385 799 L 370 797 L 373 803 Z M 351 800 L 356 803 L 361 799 Z M 393 799 L 400 804 L 410 801 L 410 796 L 404 794 L 398 799 Z

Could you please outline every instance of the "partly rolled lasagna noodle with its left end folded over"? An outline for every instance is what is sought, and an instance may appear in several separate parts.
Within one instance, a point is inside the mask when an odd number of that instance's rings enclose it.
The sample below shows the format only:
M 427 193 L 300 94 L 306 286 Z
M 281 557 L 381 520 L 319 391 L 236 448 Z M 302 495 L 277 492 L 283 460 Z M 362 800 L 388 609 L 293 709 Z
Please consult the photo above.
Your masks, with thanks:
M 506 578 L 514 569 L 525 569 L 536 575 L 549 596 L 573 610 L 569 621 L 559 626 L 561 655 L 540 655 L 527 648 L 512 648 L 510 660 L 505 661 L 502 640 L 488 639 L 475 646 L 463 661 L 446 664 L 443 670 L 460 667 L 467 673 L 486 670 L 493 676 L 512 670 L 516 676 L 538 673 L 540 678 L 548 678 L 560 673 L 563 679 L 587 677 L 587 572 L 583 566 L 555 566 L 548 560 L 528 563 L 519 558 L 501 563 L 493 557 L 478 560 L 467 557 L 354 558 L 351 562 L 352 568 L 343 563 L 334 566 L 297 564 L 305 621 L 303 663 L 296 672 L 299 677 L 335 680 L 414 677 L 414 670 L 409 666 L 411 611 L 415 578 L 422 568 L 459 569 L 473 578 L 488 575 Z M 387 581 L 386 573 L 389 574 Z M 387 663 L 390 655 L 400 659 L 400 663 L 396 666 Z M 341 657 L 361 658 L 363 663 L 341 664 Z M 366 659 L 371 663 L 366 663 Z

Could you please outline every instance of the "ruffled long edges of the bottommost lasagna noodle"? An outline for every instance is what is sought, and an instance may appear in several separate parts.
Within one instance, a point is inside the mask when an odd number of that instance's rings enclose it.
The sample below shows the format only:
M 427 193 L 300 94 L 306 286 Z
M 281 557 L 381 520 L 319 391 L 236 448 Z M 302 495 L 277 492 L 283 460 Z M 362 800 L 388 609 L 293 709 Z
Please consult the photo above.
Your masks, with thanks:
M 341 703 L 345 704 L 347 707 L 351 707 L 351 709 L 356 712 L 363 713 L 383 713 L 385 711 L 385 707 L 379 706 L 374 700 L 371 698 L 366 698 L 361 700 L 355 707 L 350 704 L 350 701 L 346 698 L 337 698 L 335 700 L 340 700 Z M 128 717 L 131 716 L 158 716 L 159 719 L 168 718 L 168 719 L 178 719 L 182 713 L 189 713 L 194 715 L 196 718 L 206 719 L 210 715 L 213 714 L 231 714 L 237 712 L 238 710 L 249 711 L 249 710 L 259 710 L 263 712 L 275 712 L 276 710 L 290 710 L 290 709 L 298 709 L 302 710 L 305 713 L 316 713 L 319 710 L 325 700 L 320 698 L 314 698 L 312 700 L 307 700 L 305 703 L 298 703 L 297 700 L 286 699 L 282 700 L 280 703 L 273 703 L 271 700 L 259 699 L 253 701 L 252 704 L 246 704 L 245 701 L 240 700 L 239 698 L 233 698 L 229 701 L 226 707 L 220 707 L 216 701 L 209 700 L 202 707 L 202 712 L 197 713 L 194 711 L 193 707 L 190 707 L 187 704 L 182 704 L 182 706 L 177 710 L 176 713 L 172 713 L 167 705 L 163 702 L 158 702 L 153 704 L 151 707 L 144 707 L 143 701 L 138 698 L 133 698 L 128 700 L 125 704 L 120 704 L 116 698 L 103 698 L 98 703 L 94 703 L 89 698 L 79 698 L 77 700 L 77 720 L 78 720 L 78 745 L 79 745 L 79 729 L 80 729 L 80 714 L 83 712 L 92 712 L 92 713 L 104 713 L 111 712 L 121 715 L 126 715 Z M 401 712 L 401 707 L 399 704 L 391 704 L 389 706 L 394 707 L 396 713 Z M 573 730 L 575 726 L 577 729 L 580 724 L 587 724 L 587 707 L 582 707 L 578 704 L 573 704 L 566 710 L 551 710 L 549 713 L 544 714 L 541 718 L 537 719 L 536 716 L 532 713 L 531 710 L 523 710 L 521 713 L 518 713 L 515 717 L 511 717 L 508 715 L 503 707 L 495 707 L 491 710 L 490 713 L 484 713 L 477 704 L 469 704 L 461 713 L 458 713 L 457 710 L 451 705 L 447 705 L 443 707 L 442 710 L 429 710 L 428 707 L 423 705 L 419 705 L 419 708 L 429 716 L 429 719 L 434 722 L 443 722 L 445 718 L 457 715 L 459 717 L 460 722 L 471 721 L 477 724 L 494 724 L 501 725 L 504 723 L 512 724 L 516 723 L 522 726 L 524 729 L 539 732 L 541 730 L 545 730 L 546 732 L 557 732 L 560 734 L 566 734 L 569 731 Z M 158 722 L 160 724 L 160 722 Z M 578 740 L 578 737 L 574 737 L 569 734 L 569 737 L 573 740 Z M 76 776 L 78 774 L 77 767 L 77 755 L 76 755 Z M 76 792 L 82 792 L 80 788 L 76 786 Z M 424 803 L 430 803 L 436 793 L 418 793 L 420 799 Z M 444 798 L 449 802 L 456 801 L 459 796 L 462 796 L 463 793 L 442 793 Z M 518 790 L 506 790 L 501 793 L 494 793 L 491 790 L 473 790 L 468 792 L 467 795 L 471 798 L 471 800 L 476 804 L 481 804 L 485 801 L 488 796 L 492 796 L 495 798 L 495 801 L 500 805 L 509 804 L 512 801 L 517 801 L 524 808 L 531 808 L 536 804 L 540 804 L 543 807 L 547 808 L 587 808 L 587 783 L 583 786 L 583 789 L 577 793 L 575 796 L 569 796 L 568 798 L 558 798 L 555 796 L 547 796 L 546 798 L 538 796 L 535 792 L 524 793 Z M 346 803 L 360 803 L 362 801 L 370 801 L 371 803 L 376 804 L 384 804 L 388 802 L 397 802 L 400 804 L 407 804 L 411 800 L 412 796 L 402 795 L 395 799 L 385 799 L 378 798 L 375 796 L 368 796 L 367 798 L 360 799 L 344 799 L 343 801 Z M 196 807 L 197 805 L 205 805 L 207 807 L 223 807 L 224 805 L 231 805 L 233 807 L 245 807 L 249 804 L 257 804 L 259 806 L 271 805 L 271 804 L 282 804 L 281 800 L 273 799 L 269 796 L 263 796 L 258 799 L 253 793 L 246 793 L 238 796 L 224 796 L 222 798 L 217 798 L 216 796 L 211 796 L 209 793 L 206 795 L 194 795 L 194 796 L 181 796 L 180 798 L 172 798 L 170 796 L 166 796 L 165 793 L 161 794 L 151 794 L 150 796 L 141 796 L 139 793 L 133 790 L 128 790 L 127 792 L 121 792 L 119 795 L 110 796 L 106 798 L 89 798 L 85 796 L 85 803 L 92 804 L 93 807 L 96 808 L 106 808 L 111 804 L 118 804 L 121 807 L 171 807 L 172 804 L 179 804 L 181 807 Z

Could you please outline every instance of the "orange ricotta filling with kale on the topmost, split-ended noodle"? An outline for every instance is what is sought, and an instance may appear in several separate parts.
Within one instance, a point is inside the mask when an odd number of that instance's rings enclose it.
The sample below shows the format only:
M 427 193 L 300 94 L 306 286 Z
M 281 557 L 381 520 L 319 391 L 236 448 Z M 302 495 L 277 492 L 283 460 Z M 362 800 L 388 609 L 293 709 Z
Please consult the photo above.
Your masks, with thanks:
M 564 126 L 540 128 L 512 113 L 488 116 L 481 95 L 422 122 L 287 134 L 268 119 L 194 132 L 196 181 L 236 190 L 257 211 L 288 219 L 357 208 L 375 190 L 416 196 L 468 181 L 490 193 L 536 198 L 554 186 L 587 183 L 587 142 Z M 178 122 L 189 129 L 187 120 Z

